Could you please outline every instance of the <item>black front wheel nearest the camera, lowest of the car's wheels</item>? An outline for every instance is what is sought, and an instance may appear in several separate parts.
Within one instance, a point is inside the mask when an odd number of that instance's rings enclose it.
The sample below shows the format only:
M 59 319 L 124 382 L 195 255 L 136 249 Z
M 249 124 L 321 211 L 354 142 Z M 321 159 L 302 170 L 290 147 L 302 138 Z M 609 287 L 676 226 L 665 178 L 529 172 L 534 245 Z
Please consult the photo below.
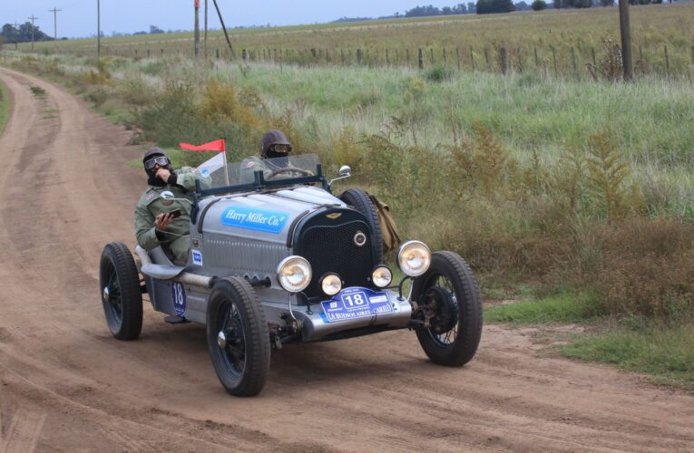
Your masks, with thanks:
M 246 280 L 225 278 L 212 287 L 207 343 L 214 371 L 231 395 L 250 397 L 263 390 L 270 364 L 268 323 L 258 294 Z

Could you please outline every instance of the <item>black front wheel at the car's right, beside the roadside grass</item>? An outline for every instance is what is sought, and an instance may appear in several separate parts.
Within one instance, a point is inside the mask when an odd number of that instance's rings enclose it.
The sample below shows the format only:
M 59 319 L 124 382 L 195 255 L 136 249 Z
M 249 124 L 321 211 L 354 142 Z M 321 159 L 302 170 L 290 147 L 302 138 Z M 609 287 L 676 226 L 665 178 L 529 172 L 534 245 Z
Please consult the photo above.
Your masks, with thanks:
M 462 366 L 474 357 L 482 336 L 482 297 L 470 266 L 453 252 L 436 252 L 425 275 L 415 279 L 413 298 L 434 297 L 439 303 L 432 325 L 417 333 L 429 359 L 439 365 Z

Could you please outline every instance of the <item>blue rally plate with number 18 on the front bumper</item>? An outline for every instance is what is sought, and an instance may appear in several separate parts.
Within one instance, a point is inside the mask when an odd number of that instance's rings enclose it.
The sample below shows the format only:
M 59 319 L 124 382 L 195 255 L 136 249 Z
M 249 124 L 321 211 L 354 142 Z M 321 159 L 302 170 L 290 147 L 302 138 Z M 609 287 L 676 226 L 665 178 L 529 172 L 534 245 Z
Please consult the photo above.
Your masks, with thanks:
M 322 302 L 321 317 L 327 323 L 339 323 L 376 314 L 393 313 L 393 304 L 387 293 L 376 293 L 368 288 L 347 288 L 331 300 Z

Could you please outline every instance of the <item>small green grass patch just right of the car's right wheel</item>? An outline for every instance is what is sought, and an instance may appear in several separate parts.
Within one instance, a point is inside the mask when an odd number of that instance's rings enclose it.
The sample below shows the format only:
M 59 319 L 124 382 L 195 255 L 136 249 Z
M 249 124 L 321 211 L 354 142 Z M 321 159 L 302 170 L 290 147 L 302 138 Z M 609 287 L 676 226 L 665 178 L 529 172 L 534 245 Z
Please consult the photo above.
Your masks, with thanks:
M 589 294 L 560 293 L 536 301 L 494 305 L 484 309 L 492 323 L 584 323 L 601 314 L 601 305 Z

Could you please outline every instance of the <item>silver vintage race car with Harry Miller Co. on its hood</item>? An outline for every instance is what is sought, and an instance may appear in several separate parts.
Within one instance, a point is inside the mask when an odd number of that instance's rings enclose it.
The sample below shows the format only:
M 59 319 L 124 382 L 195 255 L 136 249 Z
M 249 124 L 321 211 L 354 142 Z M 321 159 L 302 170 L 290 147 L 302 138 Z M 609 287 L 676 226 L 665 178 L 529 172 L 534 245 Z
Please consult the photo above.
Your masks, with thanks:
M 331 193 L 348 167 L 328 181 L 315 155 L 267 163 L 200 170 L 187 265 L 161 247 L 137 246 L 137 261 L 121 243 L 104 247 L 100 293 L 116 339 L 138 338 L 149 294 L 171 323 L 206 325 L 214 370 L 236 396 L 263 389 L 270 350 L 288 342 L 409 329 L 435 363 L 474 357 L 482 301 L 463 258 L 408 241 L 396 255 L 404 277 L 394 281 L 371 199 L 354 188 Z M 161 201 L 189 203 L 170 192 Z

